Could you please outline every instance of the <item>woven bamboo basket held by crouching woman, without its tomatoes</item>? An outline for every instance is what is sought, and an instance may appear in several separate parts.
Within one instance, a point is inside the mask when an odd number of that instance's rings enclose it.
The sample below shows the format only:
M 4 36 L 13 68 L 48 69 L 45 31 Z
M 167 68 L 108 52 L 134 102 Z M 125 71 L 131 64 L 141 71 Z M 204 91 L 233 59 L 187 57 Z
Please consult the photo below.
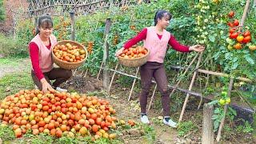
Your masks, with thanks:
M 86 58 L 88 56 L 88 52 L 86 50 L 86 48 L 84 46 L 82 46 L 80 43 L 78 42 L 74 42 L 74 41 L 70 41 L 70 40 L 63 40 L 63 41 L 59 41 L 55 46 L 57 45 L 66 45 L 66 43 L 70 43 L 72 46 L 78 46 L 79 49 L 82 49 L 82 50 L 85 50 L 86 51 L 86 57 L 84 59 L 82 59 L 82 61 L 80 62 L 64 62 L 60 59 L 58 59 L 55 55 L 54 55 L 54 49 L 51 50 L 51 55 L 52 55 L 52 59 L 53 59 L 53 62 L 63 68 L 63 69 L 66 69 L 66 70 L 74 70 L 76 68 L 78 68 L 79 66 L 82 66 L 82 64 L 84 62 L 86 62 Z

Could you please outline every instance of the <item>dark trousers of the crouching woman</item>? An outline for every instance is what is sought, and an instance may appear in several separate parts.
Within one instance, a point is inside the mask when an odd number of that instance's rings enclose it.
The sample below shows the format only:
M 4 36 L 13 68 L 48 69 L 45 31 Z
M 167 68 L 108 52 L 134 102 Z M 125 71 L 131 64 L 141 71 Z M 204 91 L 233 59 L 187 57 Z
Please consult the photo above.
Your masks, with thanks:
M 72 76 L 72 71 L 71 70 L 65 70 L 62 68 L 54 68 L 53 70 L 50 70 L 49 72 L 43 73 L 43 75 L 46 78 L 46 81 L 49 82 L 53 88 L 58 87 L 61 85 L 63 82 L 66 82 L 69 78 Z M 31 70 L 31 76 L 34 81 L 34 84 L 38 86 L 39 90 L 42 90 L 42 84 L 39 81 L 39 79 L 36 77 L 34 74 L 34 71 Z M 50 82 L 50 80 L 55 80 L 53 83 Z

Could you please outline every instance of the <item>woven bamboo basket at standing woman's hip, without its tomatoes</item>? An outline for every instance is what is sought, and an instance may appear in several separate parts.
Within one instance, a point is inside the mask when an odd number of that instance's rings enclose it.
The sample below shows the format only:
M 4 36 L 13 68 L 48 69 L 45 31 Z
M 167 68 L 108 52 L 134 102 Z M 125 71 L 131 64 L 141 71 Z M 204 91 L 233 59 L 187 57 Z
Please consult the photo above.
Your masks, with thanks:
M 127 66 L 127 67 L 138 67 L 138 66 L 142 66 L 146 63 L 147 57 L 150 54 L 150 50 L 146 49 L 148 52 L 143 55 L 140 58 L 122 58 L 122 57 L 118 57 L 118 61 L 120 64 L 122 64 L 123 66 Z

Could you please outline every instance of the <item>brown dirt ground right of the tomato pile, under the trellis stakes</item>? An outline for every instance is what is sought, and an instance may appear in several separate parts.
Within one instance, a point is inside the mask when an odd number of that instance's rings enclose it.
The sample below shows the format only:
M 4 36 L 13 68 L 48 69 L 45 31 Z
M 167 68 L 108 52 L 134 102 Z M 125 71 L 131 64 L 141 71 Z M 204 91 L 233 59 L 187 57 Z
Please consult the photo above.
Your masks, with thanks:
M 94 91 L 102 91 L 103 84 L 102 81 L 86 75 L 86 78 L 83 78 L 80 74 L 76 74 L 69 82 L 66 82 L 64 85 L 68 90 L 76 90 L 79 93 L 88 93 Z M 104 92 L 102 92 L 104 93 Z M 130 94 L 130 88 L 124 88 L 118 84 L 114 84 L 110 90 L 110 96 L 105 94 L 98 94 L 102 98 L 106 98 L 112 103 L 115 110 L 117 110 L 118 118 L 125 119 L 134 119 L 139 122 L 139 102 L 138 94 L 133 94 L 132 100 L 128 102 L 128 95 Z M 148 98 L 150 100 L 150 98 Z M 196 103 L 196 105 L 194 105 Z M 148 113 L 151 126 L 154 127 L 156 131 L 156 141 L 154 143 L 201 143 L 202 137 L 202 109 L 197 110 L 198 106 L 197 98 L 190 98 L 190 102 L 187 104 L 186 112 L 183 117 L 183 122 L 192 121 L 195 123 L 197 129 L 188 132 L 184 137 L 178 136 L 178 130 L 170 128 L 168 126 L 163 126 L 162 122 L 155 121 L 158 119 L 158 116 L 161 116 L 161 110 L 151 109 Z M 149 104 L 149 102 L 148 102 Z M 177 122 L 180 114 L 180 110 L 173 113 L 171 118 Z M 225 133 L 225 132 L 224 132 Z M 217 135 L 217 134 L 215 134 Z M 239 134 L 232 133 L 228 134 L 230 138 L 225 138 L 225 141 L 222 143 L 255 143 L 256 140 L 252 137 L 252 134 Z M 226 136 L 226 137 L 228 137 Z M 144 143 L 142 137 L 132 137 L 127 136 L 123 137 L 124 142 L 126 143 Z

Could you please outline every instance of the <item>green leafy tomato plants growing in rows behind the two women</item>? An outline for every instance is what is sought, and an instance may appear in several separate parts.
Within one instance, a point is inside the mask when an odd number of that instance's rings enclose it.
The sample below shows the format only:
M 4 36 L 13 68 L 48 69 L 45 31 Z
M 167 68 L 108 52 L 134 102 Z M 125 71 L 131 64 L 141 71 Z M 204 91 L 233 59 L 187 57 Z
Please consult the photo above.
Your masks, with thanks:
M 124 42 L 138 34 L 142 28 L 153 26 L 154 14 L 157 10 L 169 10 L 173 15 L 170 26 L 167 30 L 174 34 L 175 38 L 184 45 L 204 44 L 206 50 L 203 55 L 202 69 L 219 71 L 226 74 L 255 78 L 256 68 L 254 66 L 256 54 L 245 46 L 242 50 L 227 49 L 229 29 L 226 25 L 229 22 L 227 14 L 230 10 L 235 11 L 235 17 L 242 18 L 246 2 L 242 0 L 211 1 L 211 0 L 158 0 L 150 4 L 142 3 L 136 6 L 111 6 L 104 12 L 98 11 L 93 14 L 81 15 L 75 18 L 76 41 L 88 46 L 94 42 L 93 53 L 86 60 L 85 67 L 90 72 L 97 74 L 97 66 L 101 66 L 103 57 L 104 39 L 103 34 L 106 25 L 106 18 L 111 20 L 110 34 L 107 35 L 107 42 L 110 45 L 109 62 L 113 65 L 117 61 L 114 52 L 122 47 Z M 219 7 L 225 7 L 219 9 Z M 250 6 L 245 27 L 255 36 L 255 7 Z M 61 39 L 70 39 L 70 18 L 66 15 L 54 17 L 54 35 Z M 67 20 L 67 21 L 66 21 Z M 33 38 L 33 19 L 18 22 L 17 36 L 23 42 L 29 42 Z M 252 44 L 255 38 L 252 37 Z M 170 66 L 186 66 L 195 53 L 181 54 L 174 50 L 168 50 L 166 54 L 167 70 Z M 114 65 L 113 65 L 114 66 Z

